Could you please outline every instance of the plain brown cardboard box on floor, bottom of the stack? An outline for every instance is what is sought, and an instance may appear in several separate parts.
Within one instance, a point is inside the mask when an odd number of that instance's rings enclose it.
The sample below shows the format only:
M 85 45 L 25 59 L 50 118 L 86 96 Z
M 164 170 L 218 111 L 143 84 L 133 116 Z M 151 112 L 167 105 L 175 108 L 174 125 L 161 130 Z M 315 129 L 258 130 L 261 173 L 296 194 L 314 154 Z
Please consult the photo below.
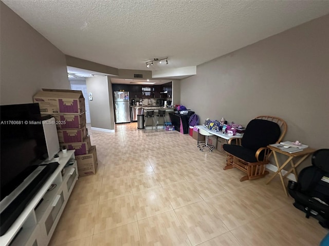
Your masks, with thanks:
M 89 153 L 76 156 L 79 176 L 88 176 L 96 174 L 98 161 L 96 146 L 90 147 Z

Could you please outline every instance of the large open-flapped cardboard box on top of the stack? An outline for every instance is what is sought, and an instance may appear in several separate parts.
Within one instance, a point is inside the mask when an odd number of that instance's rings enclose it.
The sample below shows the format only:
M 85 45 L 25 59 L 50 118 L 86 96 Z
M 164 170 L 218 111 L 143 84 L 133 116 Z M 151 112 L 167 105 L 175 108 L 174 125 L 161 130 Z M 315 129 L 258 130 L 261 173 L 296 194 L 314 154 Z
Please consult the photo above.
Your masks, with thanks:
M 42 89 L 33 96 L 42 114 L 81 114 L 85 112 L 81 91 Z

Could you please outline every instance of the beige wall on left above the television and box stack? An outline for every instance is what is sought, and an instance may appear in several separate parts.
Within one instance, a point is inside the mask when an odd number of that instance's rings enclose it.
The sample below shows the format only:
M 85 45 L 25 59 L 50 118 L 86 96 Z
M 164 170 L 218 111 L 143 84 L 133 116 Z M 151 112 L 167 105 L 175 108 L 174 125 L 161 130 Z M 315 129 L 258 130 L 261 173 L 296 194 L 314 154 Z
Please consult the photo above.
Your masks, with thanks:
M 33 103 L 42 88 L 70 89 L 65 55 L 0 4 L 1 105 Z

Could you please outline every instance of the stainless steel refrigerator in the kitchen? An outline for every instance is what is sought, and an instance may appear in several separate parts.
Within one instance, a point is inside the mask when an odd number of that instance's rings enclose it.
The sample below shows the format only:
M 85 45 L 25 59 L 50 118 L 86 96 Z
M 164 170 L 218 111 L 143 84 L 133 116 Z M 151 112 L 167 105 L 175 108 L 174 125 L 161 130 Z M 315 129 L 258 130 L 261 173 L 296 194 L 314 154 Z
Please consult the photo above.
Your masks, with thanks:
M 129 92 L 115 91 L 114 92 L 114 110 L 115 122 L 125 123 L 130 122 L 130 105 Z

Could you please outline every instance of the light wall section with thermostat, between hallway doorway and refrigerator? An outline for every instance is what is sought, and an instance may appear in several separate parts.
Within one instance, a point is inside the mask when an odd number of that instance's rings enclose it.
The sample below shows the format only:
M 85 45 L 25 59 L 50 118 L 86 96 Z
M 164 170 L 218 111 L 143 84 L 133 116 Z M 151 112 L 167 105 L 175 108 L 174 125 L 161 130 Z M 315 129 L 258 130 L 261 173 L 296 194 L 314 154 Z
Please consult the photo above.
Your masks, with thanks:
M 86 78 L 87 92 L 93 94 L 93 100 L 89 100 L 90 121 L 92 127 L 113 130 L 112 121 L 113 100 L 109 94 L 107 76 Z

